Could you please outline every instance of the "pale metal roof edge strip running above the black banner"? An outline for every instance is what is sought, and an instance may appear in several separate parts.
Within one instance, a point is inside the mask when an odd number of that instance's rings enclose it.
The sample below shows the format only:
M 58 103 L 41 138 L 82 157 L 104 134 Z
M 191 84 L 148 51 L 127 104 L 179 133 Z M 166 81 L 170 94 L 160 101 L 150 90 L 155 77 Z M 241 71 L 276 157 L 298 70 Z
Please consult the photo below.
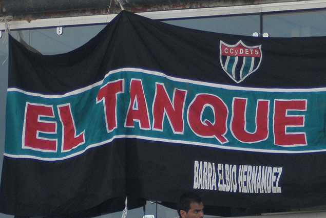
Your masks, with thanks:
M 213 8 L 196 8 L 196 9 L 179 9 L 166 11 L 151 11 L 139 12 L 144 17 L 151 19 L 172 19 L 172 18 L 188 18 L 200 16 L 223 16 L 223 15 L 244 15 L 254 13 L 267 12 L 284 12 L 292 10 L 312 10 L 326 8 L 326 1 L 324 0 L 310 0 L 299 2 L 282 2 L 282 3 L 267 3 L 256 5 L 241 5 L 241 6 L 225 6 Z M 35 20 L 10 20 L 8 27 L 10 30 L 19 29 L 33 29 L 46 27 L 64 27 L 64 26 L 79 26 L 92 24 L 106 24 L 109 23 L 117 14 L 101 14 L 89 16 L 75 16 L 75 17 L 59 17 L 59 18 L 45 18 Z M 6 25 L 4 21 L 0 24 L 0 30 L 5 30 Z

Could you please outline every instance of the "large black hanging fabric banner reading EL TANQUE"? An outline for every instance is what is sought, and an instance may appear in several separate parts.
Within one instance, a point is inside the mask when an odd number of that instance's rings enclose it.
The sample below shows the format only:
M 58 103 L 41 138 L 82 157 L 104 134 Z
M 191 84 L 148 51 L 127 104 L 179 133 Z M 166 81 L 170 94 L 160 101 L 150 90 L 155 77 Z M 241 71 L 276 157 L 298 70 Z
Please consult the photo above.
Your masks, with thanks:
M 0 210 L 85 215 L 183 191 L 205 206 L 326 204 L 325 112 L 326 37 L 217 34 L 126 11 L 66 54 L 9 37 Z

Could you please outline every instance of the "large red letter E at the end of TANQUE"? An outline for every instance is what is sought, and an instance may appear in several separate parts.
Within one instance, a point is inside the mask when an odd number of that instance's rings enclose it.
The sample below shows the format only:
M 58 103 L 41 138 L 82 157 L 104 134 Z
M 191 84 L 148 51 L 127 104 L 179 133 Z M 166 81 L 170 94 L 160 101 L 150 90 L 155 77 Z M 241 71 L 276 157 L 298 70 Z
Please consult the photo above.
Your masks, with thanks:
M 305 133 L 289 133 L 287 127 L 303 127 L 304 115 L 288 115 L 289 111 L 306 111 L 307 100 L 274 100 L 274 144 L 307 145 Z

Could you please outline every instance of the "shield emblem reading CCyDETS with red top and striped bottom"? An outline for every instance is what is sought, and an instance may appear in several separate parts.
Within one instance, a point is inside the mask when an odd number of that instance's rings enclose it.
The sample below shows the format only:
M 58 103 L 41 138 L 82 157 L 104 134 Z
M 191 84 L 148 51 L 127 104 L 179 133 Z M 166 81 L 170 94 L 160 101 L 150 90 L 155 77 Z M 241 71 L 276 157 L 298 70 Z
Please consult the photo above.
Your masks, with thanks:
M 237 83 L 259 68 L 261 57 L 261 45 L 246 46 L 241 40 L 236 45 L 228 45 L 220 41 L 222 69 Z

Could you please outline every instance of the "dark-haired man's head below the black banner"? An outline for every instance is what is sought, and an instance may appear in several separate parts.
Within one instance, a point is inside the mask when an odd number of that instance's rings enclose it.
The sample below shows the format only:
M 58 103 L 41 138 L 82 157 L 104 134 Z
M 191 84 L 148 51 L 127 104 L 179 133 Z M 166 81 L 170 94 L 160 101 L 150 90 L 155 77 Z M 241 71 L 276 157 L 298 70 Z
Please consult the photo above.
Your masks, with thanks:
M 198 194 L 186 192 L 181 195 L 178 202 L 178 213 L 182 218 L 203 218 L 204 205 Z

